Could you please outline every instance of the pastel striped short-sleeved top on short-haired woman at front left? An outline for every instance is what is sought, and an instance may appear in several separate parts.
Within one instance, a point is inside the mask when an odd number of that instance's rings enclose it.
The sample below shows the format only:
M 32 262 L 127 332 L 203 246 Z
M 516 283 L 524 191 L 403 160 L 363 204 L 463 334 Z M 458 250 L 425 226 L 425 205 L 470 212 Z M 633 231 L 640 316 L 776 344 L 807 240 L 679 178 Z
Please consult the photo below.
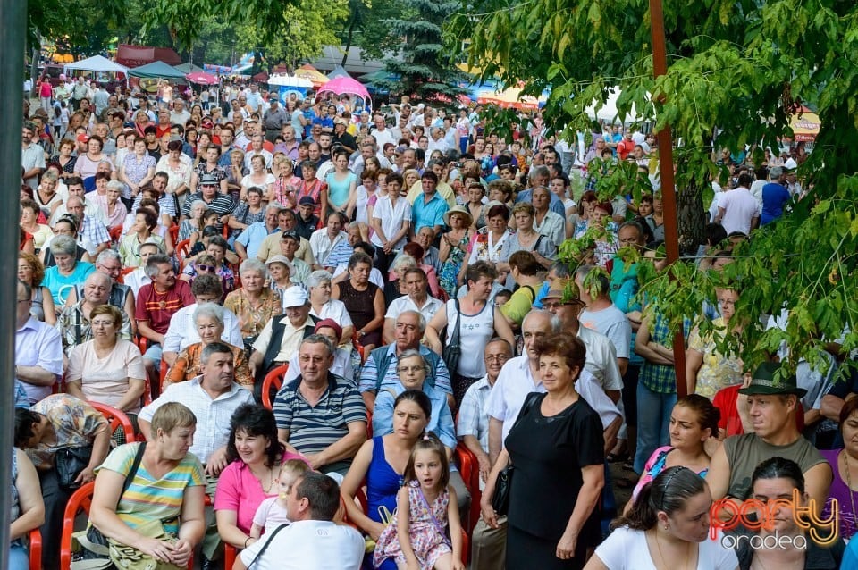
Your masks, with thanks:
M 115 448 L 98 470 L 128 475 L 139 445 L 128 443 Z M 179 465 L 160 478 L 149 474 L 146 466 L 140 462 L 133 481 L 119 500 L 116 515 L 132 529 L 152 520 L 160 520 L 164 522 L 164 531 L 178 532 L 185 488 L 205 484 L 203 465 L 193 454 L 183 457 Z

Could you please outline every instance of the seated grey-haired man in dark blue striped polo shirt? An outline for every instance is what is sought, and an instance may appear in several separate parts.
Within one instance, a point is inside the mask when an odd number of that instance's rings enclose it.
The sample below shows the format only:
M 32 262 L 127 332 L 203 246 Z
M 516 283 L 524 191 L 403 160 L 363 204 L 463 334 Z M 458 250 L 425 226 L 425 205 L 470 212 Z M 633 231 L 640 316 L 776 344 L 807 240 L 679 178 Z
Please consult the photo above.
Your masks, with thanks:
M 330 372 L 334 347 L 320 334 L 301 341 L 298 378 L 274 399 L 280 440 L 323 473 L 345 475 L 366 440 L 366 406 L 354 383 Z

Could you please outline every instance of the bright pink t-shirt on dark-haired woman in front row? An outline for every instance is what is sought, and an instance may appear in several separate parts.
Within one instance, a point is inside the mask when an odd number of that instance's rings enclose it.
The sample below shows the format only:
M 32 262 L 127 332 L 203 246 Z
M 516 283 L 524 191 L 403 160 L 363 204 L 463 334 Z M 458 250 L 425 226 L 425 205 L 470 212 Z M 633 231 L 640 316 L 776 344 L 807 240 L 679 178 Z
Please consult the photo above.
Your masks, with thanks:
M 305 461 L 303 456 L 293 453 L 286 453 L 283 456 L 283 461 L 289 459 L 300 459 Z M 243 461 L 233 461 L 227 465 L 221 472 L 221 476 L 217 480 L 217 490 L 214 492 L 214 510 L 215 511 L 235 511 L 236 526 L 241 532 L 250 532 L 250 526 L 253 524 L 253 516 L 257 513 L 257 508 L 268 497 L 276 497 L 278 494 L 277 485 L 272 485 L 272 492 L 265 494 L 262 490 L 262 483 L 253 476 L 248 469 L 248 465 Z

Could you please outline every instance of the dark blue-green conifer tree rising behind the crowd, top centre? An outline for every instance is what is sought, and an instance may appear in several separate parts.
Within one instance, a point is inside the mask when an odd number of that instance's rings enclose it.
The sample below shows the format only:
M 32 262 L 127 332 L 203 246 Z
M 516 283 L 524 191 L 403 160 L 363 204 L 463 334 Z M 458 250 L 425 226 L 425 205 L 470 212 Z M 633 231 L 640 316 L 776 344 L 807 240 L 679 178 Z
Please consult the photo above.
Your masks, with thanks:
M 400 80 L 387 87 L 391 92 L 416 95 L 426 101 L 452 101 L 463 94 L 463 74 L 452 63 L 442 44 L 442 25 L 458 10 L 458 0 L 405 0 L 400 19 L 383 21 L 400 38 L 401 59 L 390 57 L 385 68 Z

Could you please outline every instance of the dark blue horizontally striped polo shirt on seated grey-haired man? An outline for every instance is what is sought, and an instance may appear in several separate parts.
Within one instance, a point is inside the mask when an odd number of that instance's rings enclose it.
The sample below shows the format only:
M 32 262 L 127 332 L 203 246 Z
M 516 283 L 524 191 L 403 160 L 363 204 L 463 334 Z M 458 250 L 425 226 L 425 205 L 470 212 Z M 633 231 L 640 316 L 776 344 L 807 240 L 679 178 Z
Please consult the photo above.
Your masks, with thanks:
M 301 395 L 301 377 L 277 393 L 277 427 L 289 430 L 289 442 L 304 455 L 318 453 L 349 433 L 349 423 L 366 423 L 366 406 L 354 383 L 328 373 L 328 389 L 315 406 Z

